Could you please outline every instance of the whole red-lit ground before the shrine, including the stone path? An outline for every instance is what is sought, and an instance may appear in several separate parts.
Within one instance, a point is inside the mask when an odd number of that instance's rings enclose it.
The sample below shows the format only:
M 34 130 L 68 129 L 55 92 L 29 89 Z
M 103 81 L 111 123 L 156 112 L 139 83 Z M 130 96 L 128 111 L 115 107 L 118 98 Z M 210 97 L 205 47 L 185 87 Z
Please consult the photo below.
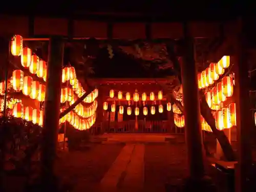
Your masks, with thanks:
M 69 152 L 58 161 L 58 175 L 74 191 L 165 191 L 185 176 L 184 143 L 97 144 Z

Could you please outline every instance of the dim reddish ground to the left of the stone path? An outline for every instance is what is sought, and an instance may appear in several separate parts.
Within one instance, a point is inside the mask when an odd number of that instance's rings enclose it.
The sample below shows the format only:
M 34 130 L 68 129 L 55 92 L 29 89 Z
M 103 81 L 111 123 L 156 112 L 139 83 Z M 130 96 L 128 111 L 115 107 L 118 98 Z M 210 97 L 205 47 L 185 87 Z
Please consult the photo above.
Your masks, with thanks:
M 96 144 L 87 150 L 62 154 L 57 161 L 57 175 L 63 182 L 74 185 L 75 191 L 84 191 L 100 182 L 123 146 Z

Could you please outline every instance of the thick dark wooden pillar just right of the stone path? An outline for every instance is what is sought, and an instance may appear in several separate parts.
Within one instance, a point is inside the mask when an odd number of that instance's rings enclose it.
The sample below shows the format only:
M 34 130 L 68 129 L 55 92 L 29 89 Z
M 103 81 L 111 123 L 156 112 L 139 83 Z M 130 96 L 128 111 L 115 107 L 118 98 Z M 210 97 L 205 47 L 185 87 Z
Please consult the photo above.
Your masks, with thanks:
M 194 58 L 194 38 L 184 24 L 183 59 L 181 78 L 185 115 L 185 140 L 188 160 L 188 178 L 184 180 L 183 191 L 212 191 L 211 180 L 205 177 L 204 151 L 200 121 L 200 102 L 197 81 L 197 67 Z

